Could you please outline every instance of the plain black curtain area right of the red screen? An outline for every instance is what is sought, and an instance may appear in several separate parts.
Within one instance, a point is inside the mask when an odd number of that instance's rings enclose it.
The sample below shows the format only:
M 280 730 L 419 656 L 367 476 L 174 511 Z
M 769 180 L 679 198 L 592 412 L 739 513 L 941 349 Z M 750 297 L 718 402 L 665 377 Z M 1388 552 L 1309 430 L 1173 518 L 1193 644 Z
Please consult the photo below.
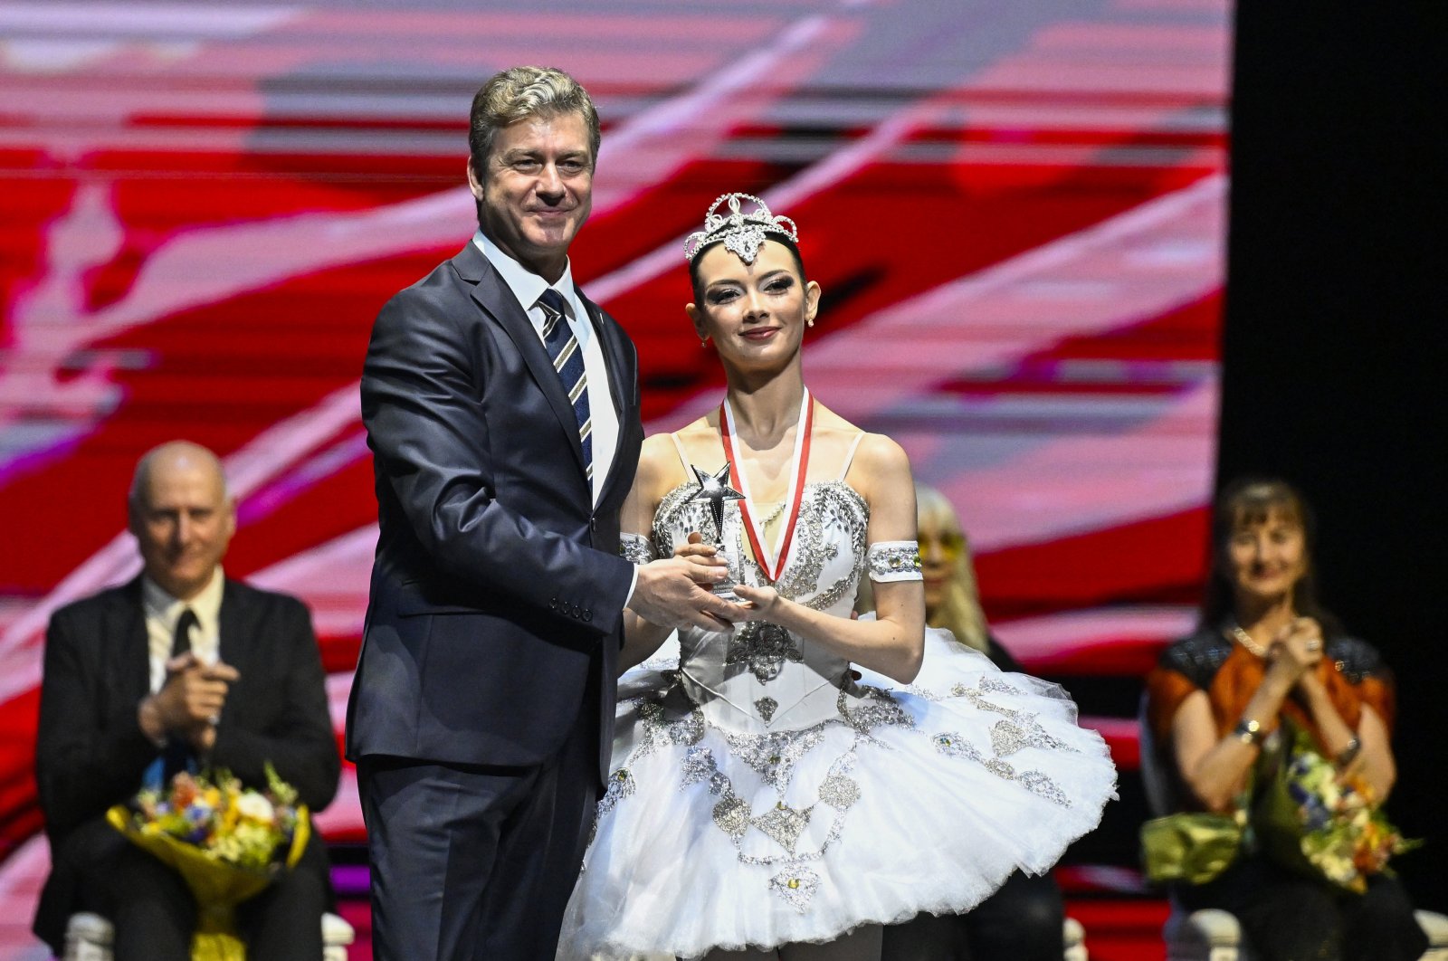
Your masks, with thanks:
M 1448 4 L 1239 0 L 1218 479 L 1284 476 L 1396 670 L 1390 815 L 1448 910 Z

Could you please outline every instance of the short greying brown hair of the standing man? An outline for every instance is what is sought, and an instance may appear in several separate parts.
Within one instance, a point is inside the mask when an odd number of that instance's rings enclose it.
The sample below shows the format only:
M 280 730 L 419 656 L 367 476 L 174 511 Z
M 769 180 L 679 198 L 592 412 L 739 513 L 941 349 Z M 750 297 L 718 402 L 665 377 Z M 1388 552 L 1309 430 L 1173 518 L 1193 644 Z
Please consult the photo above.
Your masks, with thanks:
M 488 78 L 472 98 L 468 152 L 478 179 L 487 178 L 492 139 L 518 120 L 576 113 L 588 124 L 588 164 L 598 162 L 598 109 L 582 84 L 553 67 L 510 67 Z

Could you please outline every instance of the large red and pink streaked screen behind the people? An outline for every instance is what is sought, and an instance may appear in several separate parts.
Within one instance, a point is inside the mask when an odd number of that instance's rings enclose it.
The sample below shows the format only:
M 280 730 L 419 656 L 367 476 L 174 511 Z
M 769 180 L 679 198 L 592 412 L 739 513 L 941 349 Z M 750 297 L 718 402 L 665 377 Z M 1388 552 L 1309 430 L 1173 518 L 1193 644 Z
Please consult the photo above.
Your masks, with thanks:
M 227 573 L 311 606 L 340 731 L 374 544 L 368 329 L 468 239 L 468 101 L 517 62 L 569 69 L 604 116 L 573 271 L 639 344 L 650 430 L 721 384 L 682 239 L 720 192 L 759 194 L 825 291 L 811 386 L 960 507 L 1001 640 L 1077 693 L 1129 815 L 1132 685 L 1203 575 L 1229 1 L 588 10 L 0 3 L 10 931 L 45 870 L 45 621 L 135 573 L 123 492 L 148 447 L 226 459 Z M 350 773 L 320 821 L 359 837 Z M 1129 835 L 1085 861 L 1129 864 Z

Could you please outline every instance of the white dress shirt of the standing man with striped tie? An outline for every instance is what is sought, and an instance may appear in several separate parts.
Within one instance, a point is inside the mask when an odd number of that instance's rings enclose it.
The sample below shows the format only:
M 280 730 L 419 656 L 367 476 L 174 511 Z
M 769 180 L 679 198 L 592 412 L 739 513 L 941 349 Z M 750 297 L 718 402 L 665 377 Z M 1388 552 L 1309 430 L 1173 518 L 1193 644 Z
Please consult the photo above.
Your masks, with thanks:
M 549 288 L 549 282 L 537 274 L 529 271 L 521 263 L 498 249 L 481 230 L 473 234 L 472 242 L 482 250 L 482 256 L 498 269 L 502 282 L 508 285 L 518 304 L 533 321 L 533 330 L 543 343 L 543 324 L 547 320 L 543 308 L 539 307 L 539 297 Z M 604 347 L 601 337 L 594 330 L 584 301 L 578 298 L 573 287 L 572 263 L 563 265 L 563 276 L 552 285 L 563 295 L 563 305 L 568 308 L 568 326 L 584 350 L 584 373 L 588 376 L 588 414 L 594 420 L 594 504 L 598 504 L 608 480 L 608 469 L 614 466 L 614 454 L 618 449 L 618 411 L 614 410 L 614 395 L 610 391 L 608 365 L 604 363 Z

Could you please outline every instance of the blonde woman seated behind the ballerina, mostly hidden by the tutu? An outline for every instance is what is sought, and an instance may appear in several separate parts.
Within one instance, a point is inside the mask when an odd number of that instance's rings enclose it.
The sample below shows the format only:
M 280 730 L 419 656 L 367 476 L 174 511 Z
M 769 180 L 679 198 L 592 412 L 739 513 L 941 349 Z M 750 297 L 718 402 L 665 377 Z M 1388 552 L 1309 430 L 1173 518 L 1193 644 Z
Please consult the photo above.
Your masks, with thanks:
M 956 643 L 980 651 L 1001 670 L 1019 672 L 1021 664 L 1001 647 L 986 625 L 970 543 L 956 508 L 940 491 L 918 483 L 915 511 L 919 566 L 925 580 L 925 622 L 950 631 Z M 928 648 L 925 660 L 928 672 Z M 1060 961 L 1064 915 L 1061 892 L 1050 874 L 1032 877 L 1016 871 L 1001 890 L 967 915 L 922 913 L 886 928 L 880 961 Z

